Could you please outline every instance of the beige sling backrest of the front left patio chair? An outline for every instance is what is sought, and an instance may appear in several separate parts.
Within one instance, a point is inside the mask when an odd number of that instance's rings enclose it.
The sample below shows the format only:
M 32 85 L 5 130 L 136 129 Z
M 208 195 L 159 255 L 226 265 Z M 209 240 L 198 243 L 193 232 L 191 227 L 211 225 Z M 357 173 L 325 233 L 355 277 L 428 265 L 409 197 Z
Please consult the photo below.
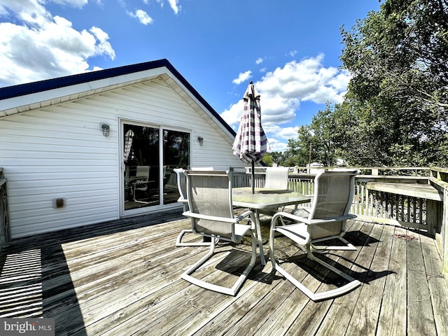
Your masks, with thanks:
M 199 218 L 192 218 L 193 232 L 232 239 L 234 224 L 222 221 L 233 218 L 229 172 L 188 170 L 185 174 L 188 206 L 193 214 L 199 215 Z

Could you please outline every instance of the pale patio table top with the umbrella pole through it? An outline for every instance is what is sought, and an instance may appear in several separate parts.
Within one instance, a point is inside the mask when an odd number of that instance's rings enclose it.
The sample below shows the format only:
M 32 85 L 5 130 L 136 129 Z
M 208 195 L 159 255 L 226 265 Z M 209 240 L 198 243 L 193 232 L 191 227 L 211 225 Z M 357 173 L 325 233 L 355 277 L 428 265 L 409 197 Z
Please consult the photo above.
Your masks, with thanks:
M 291 204 L 309 202 L 310 197 L 297 193 L 293 190 L 277 190 L 267 188 L 232 188 L 232 204 L 237 207 L 251 209 L 269 209 L 283 207 Z

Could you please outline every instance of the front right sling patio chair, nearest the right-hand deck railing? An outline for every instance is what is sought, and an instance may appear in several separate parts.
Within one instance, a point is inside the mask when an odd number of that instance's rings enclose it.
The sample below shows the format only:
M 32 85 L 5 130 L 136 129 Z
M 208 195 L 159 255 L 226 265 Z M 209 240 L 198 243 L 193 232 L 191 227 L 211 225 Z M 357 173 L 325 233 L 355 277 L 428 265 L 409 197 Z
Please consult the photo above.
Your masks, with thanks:
M 325 300 L 336 297 L 360 286 L 360 282 L 353 279 L 348 274 L 329 265 L 327 262 L 317 258 L 311 249 L 328 250 L 356 250 L 342 236 L 346 232 L 346 221 L 356 218 L 349 214 L 351 202 L 354 194 L 354 181 L 357 171 L 350 172 L 320 172 L 314 179 L 314 200 L 310 209 L 299 208 L 289 214 L 279 212 L 272 217 L 271 229 L 269 232 L 269 248 L 272 267 L 286 277 L 293 285 L 302 290 L 311 300 Z M 279 218 L 288 218 L 292 223 L 284 225 L 282 222 L 277 226 Z M 277 234 L 277 235 L 276 235 Z M 298 244 L 300 248 L 307 252 L 307 257 L 318 262 L 320 265 L 330 269 L 339 276 L 349 281 L 344 286 L 327 290 L 321 293 L 313 293 L 306 288 L 298 279 L 281 267 L 274 257 L 274 238 L 283 235 Z M 316 243 L 338 239 L 343 246 L 316 246 Z M 284 241 L 282 241 L 284 244 Z

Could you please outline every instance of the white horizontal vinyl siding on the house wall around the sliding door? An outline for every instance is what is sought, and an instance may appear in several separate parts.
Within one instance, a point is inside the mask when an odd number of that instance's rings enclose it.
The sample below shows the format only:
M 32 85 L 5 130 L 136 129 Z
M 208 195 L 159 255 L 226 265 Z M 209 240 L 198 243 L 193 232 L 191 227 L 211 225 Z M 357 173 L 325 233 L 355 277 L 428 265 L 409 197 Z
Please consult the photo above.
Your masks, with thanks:
M 8 179 L 13 238 L 119 218 L 120 119 L 192 131 L 193 166 L 243 165 L 222 128 L 161 78 L 5 116 L 0 167 Z M 110 125 L 109 137 L 100 123 Z M 66 207 L 52 207 L 57 197 L 66 198 Z

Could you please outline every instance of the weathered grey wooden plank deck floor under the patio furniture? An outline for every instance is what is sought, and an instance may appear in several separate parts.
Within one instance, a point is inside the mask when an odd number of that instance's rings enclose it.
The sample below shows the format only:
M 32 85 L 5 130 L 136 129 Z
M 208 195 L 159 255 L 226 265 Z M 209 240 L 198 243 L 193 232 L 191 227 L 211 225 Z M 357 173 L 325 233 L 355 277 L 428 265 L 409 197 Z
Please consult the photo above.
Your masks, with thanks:
M 322 258 L 350 269 L 363 286 L 323 302 L 309 300 L 270 263 L 258 263 L 236 297 L 183 281 L 181 272 L 207 247 L 174 245 L 188 227 L 179 211 L 18 239 L 0 255 L 0 317 L 55 318 L 56 335 L 448 335 L 448 287 L 433 239 L 349 224 L 346 238 L 358 251 Z M 230 254 L 219 253 L 198 275 L 234 279 L 250 246 L 235 247 L 223 246 Z M 285 253 L 292 251 L 279 249 Z M 315 290 L 339 280 L 302 253 L 288 261 Z

